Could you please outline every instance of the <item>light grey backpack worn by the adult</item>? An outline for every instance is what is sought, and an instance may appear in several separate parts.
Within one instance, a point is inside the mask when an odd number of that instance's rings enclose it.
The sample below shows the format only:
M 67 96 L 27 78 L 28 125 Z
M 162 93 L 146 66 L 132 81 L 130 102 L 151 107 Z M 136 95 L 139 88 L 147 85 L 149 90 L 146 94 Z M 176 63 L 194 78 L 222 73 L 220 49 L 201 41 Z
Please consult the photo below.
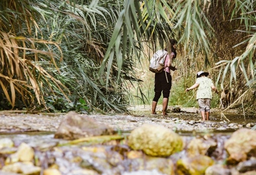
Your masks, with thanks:
M 150 59 L 149 70 L 154 73 L 160 73 L 165 69 L 165 58 L 168 52 L 165 50 L 159 50 L 154 53 Z

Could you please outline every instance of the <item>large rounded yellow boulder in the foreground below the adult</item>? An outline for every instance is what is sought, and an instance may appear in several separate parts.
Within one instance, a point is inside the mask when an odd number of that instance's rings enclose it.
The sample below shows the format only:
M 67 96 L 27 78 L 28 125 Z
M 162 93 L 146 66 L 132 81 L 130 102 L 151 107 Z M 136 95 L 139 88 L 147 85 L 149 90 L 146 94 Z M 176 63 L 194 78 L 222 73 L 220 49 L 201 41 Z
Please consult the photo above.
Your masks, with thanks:
M 169 156 L 183 149 L 183 140 L 164 126 L 144 124 L 131 132 L 128 145 L 151 156 Z

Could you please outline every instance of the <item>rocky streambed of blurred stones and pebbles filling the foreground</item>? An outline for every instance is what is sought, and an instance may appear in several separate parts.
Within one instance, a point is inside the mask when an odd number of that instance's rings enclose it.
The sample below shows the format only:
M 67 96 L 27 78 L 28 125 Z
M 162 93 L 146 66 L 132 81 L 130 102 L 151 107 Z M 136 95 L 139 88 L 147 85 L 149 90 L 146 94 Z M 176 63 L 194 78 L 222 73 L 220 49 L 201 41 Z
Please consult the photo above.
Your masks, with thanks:
M 210 120 L 202 121 L 195 108 L 170 107 L 165 117 L 150 115 L 150 107 L 131 110 L 135 114 L 77 114 L 113 128 L 115 134 L 73 141 L 54 138 L 66 114 L 2 111 L 0 174 L 256 174 L 255 116 L 235 109 L 223 115 L 212 109 Z M 158 125 L 178 134 L 182 147 L 165 156 L 145 154 L 143 147 L 131 148 L 131 131 L 145 124 L 152 127 L 148 133 L 155 135 L 139 136 L 134 139 L 138 144 L 144 137 L 149 142 L 160 139 L 153 126 Z M 228 148 L 227 140 L 231 140 Z

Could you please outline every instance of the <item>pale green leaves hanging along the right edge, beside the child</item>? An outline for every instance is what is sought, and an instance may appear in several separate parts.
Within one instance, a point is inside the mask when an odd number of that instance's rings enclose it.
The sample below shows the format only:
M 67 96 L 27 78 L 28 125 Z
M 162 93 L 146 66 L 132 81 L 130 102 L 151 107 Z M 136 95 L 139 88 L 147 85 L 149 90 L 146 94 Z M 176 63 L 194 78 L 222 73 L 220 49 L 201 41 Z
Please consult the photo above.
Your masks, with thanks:
M 256 49 L 256 27 L 255 27 L 255 12 L 256 4 L 251 1 L 233 1 L 227 6 L 230 8 L 231 19 L 230 21 L 240 21 L 240 24 L 244 30 L 236 30 L 243 34 L 248 34 L 245 40 L 233 46 L 233 48 L 238 48 L 239 46 L 245 45 L 245 50 L 240 56 L 236 56 L 233 60 L 226 61 L 228 64 L 225 67 L 224 75 L 230 71 L 230 82 L 232 85 L 232 80 L 237 80 L 237 72 L 240 70 L 247 82 L 247 86 L 251 87 L 255 84 L 255 49 Z M 221 64 L 221 61 L 216 63 Z M 225 76 L 223 75 L 222 83 Z

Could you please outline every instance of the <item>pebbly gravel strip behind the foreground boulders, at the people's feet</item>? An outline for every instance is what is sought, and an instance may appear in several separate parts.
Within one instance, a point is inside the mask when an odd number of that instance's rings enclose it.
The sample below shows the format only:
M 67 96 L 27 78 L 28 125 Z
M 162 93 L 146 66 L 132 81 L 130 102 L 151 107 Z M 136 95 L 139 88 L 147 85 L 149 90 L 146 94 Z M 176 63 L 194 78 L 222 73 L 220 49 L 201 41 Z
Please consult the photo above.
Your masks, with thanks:
M 161 115 L 161 106 L 157 107 L 160 114 L 150 114 L 150 106 L 131 107 L 131 114 L 80 114 L 104 123 L 115 130 L 131 131 L 144 123 L 160 124 L 179 132 L 209 132 L 251 128 L 256 123 L 253 115 L 243 115 L 242 111 L 229 109 L 221 112 L 220 109 L 211 109 L 210 120 L 202 121 L 197 108 L 182 108 L 170 106 L 168 115 Z M 65 113 L 29 114 L 22 111 L 1 111 L 0 132 L 55 132 L 64 119 Z

